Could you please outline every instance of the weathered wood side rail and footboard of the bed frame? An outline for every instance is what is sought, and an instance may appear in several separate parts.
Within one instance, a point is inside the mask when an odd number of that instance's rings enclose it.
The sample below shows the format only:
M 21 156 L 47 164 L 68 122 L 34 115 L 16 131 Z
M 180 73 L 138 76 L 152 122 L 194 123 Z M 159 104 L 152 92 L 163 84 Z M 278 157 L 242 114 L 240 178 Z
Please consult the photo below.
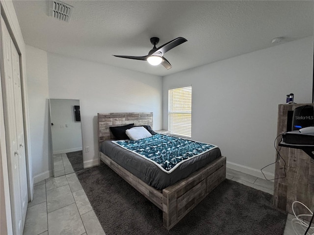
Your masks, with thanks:
M 168 230 L 226 178 L 226 157 L 221 156 L 161 191 L 147 185 L 102 152 L 100 159 L 163 211 L 163 226 Z

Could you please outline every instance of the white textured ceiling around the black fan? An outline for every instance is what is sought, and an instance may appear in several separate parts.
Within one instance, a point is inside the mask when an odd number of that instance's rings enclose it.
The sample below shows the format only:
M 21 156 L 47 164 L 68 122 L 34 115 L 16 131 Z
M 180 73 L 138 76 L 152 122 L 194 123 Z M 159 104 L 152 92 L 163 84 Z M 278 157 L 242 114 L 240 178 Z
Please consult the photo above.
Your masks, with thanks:
M 13 0 L 27 45 L 159 76 L 187 70 L 314 34 L 314 1 L 64 1 L 70 22 L 48 16 L 49 2 Z M 151 37 L 160 46 L 188 41 L 164 56 L 172 69 L 116 55 L 147 55 Z

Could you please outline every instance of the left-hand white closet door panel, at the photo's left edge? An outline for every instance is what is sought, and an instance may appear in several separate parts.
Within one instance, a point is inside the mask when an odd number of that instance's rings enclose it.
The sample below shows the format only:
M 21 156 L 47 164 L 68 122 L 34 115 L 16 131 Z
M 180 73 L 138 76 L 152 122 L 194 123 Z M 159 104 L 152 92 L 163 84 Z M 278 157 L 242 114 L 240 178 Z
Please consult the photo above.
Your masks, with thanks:
M 11 200 L 12 227 L 14 235 L 23 234 L 23 212 L 21 198 L 21 172 L 17 120 L 15 115 L 15 86 L 13 78 L 11 45 L 12 39 L 1 17 L 4 81 L 2 82 L 3 110 L 5 121 L 6 149 L 8 160 L 9 187 Z M 23 170 L 22 170 L 23 171 Z M 25 175 L 26 177 L 26 175 Z M 27 184 L 26 184 L 27 186 Z M 27 203 L 26 203 L 27 207 Z

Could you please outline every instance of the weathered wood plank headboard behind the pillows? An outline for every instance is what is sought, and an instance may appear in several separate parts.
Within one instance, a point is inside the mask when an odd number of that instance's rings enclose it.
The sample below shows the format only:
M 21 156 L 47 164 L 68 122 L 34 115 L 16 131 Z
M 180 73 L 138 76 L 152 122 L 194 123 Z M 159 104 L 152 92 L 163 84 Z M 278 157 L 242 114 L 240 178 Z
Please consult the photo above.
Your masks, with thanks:
M 113 139 L 110 126 L 150 125 L 153 127 L 153 113 L 108 113 L 98 114 L 98 141 Z

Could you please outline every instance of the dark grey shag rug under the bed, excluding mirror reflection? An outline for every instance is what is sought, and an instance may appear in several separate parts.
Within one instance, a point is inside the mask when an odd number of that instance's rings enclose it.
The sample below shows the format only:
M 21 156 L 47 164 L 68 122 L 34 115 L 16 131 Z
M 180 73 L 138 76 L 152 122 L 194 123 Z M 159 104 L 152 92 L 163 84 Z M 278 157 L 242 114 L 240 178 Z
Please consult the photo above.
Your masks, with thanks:
M 168 232 L 162 212 L 105 164 L 77 173 L 106 235 L 283 235 L 272 195 L 225 180 Z

